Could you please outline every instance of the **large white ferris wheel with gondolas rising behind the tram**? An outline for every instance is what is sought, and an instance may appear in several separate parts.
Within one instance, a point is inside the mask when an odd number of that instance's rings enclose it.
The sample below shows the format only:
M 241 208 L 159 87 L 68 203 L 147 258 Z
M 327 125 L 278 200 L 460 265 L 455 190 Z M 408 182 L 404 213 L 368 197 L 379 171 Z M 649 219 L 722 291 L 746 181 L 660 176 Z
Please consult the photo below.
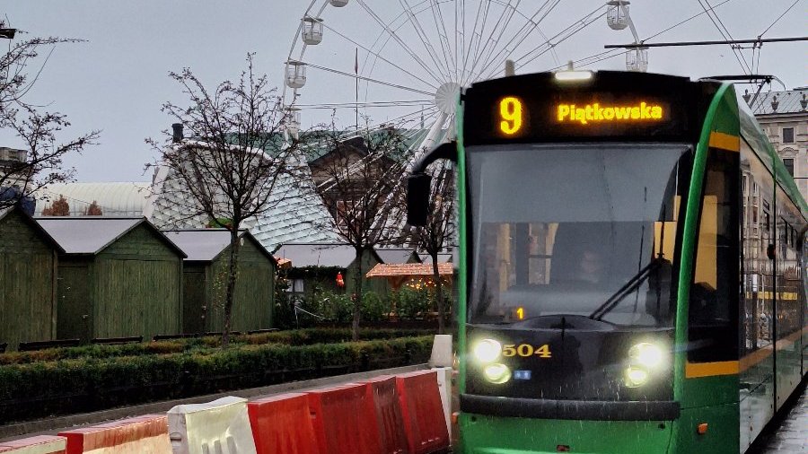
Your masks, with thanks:
M 461 87 L 501 76 L 505 61 L 559 65 L 559 46 L 607 16 L 630 23 L 627 0 L 587 2 L 559 16 L 560 0 L 312 0 L 285 62 L 286 130 L 338 118 L 356 129 L 400 127 L 413 149 L 455 135 Z M 644 70 L 640 52 L 629 69 Z M 565 58 L 572 57 L 564 55 Z M 645 55 L 647 65 L 647 54 Z M 539 69 L 542 67 L 532 68 Z

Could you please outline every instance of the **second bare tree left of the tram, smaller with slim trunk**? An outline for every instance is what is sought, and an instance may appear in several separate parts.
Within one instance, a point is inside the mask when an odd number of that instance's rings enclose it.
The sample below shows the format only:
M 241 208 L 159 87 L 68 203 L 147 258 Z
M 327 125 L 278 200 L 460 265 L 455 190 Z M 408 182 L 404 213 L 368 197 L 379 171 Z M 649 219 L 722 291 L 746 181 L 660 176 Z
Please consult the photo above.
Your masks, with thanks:
M 355 135 L 329 130 L 310 135 L 312 179 L 334 218 L 330 226 L 356 252 L 359 273 L 354 280 L 353 338 L 359 335 L 362 308 L 363 258 L 377 245 L 397 236 L 402 197 L 401 176 L 410 152 L 400 128 L 360 130 Z M 325 152 L 323 154 L 323 152 Z

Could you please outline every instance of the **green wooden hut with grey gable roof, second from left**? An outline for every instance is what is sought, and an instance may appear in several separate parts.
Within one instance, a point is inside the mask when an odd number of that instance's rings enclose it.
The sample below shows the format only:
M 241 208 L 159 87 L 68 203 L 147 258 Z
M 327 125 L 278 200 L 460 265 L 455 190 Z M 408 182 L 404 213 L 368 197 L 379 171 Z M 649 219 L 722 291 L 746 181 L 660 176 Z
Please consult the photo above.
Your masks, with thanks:
M 180 333 L 185 254 L 143 217 L 40 217 L 59 256 L 57 336 Z

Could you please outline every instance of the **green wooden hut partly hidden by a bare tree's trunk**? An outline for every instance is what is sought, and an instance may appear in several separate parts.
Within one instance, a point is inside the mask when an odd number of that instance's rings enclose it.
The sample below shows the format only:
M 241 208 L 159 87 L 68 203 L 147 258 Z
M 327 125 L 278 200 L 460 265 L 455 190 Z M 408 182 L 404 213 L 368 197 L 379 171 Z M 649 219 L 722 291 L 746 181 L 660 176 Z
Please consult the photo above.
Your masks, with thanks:
M 183 266 L 183 333 L 224 329 L 224 290 L 230 261 L 230 231 L 163 231 L 188 258 Z M 273 326 L 277 264 L 249 231 L 239 232 L 239 266 L 231 330 Z

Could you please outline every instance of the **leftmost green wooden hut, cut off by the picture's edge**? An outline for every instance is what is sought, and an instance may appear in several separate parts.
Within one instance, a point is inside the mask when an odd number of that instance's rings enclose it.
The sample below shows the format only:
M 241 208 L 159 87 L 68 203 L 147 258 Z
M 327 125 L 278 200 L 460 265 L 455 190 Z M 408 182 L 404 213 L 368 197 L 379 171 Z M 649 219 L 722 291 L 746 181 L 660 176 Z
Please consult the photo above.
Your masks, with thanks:
M 0 344 L 56 339 L 62 249 L 19 208 L 0 210 Z

